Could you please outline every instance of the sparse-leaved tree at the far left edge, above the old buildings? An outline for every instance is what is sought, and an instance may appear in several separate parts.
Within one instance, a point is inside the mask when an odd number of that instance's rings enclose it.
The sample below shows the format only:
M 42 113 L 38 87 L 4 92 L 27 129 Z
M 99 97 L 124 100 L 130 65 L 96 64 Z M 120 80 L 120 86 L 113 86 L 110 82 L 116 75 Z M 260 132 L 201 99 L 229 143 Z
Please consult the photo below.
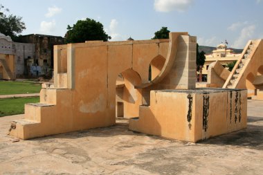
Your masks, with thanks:
M 16 41 L 19 33 L 26 29 L 26 25 L 22 20 L 22 17 L 16 15 L 6 15 L 9 13 L 8 8 L 4 8 L 0 4 L 0 33 L 10 36 L 12 40 Z

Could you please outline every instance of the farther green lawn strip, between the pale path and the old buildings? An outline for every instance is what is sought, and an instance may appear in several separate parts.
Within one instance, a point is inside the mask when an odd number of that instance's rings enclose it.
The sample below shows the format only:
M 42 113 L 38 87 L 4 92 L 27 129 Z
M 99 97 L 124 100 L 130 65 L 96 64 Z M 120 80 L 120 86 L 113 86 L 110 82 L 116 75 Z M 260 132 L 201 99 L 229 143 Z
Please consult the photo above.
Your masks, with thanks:
M 0 81 L 0 95 L 39 93 L 41 84 L 35 82 Z

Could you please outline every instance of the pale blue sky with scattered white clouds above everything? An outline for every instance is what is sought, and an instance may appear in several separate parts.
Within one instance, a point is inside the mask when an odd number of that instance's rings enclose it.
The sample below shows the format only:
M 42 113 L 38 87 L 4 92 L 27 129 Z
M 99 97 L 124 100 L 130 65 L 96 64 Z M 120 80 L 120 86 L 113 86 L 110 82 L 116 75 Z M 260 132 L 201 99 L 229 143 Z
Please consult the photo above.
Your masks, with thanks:
M 112 40 L 150 39 L 156 30 L 187 31 L 199 45 L 244 48 L 263 38 L 263 0 L 0 0 L 23 17 L 23 35 L 61 35 L 87 17 L 100 21 Z

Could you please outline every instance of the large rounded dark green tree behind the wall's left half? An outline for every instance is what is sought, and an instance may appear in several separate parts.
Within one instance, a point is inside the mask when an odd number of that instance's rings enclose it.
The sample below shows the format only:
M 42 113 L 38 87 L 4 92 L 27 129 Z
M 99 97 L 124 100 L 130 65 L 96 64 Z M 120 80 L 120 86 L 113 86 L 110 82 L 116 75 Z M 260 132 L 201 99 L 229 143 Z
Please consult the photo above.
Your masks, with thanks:
M 85 42 L 91 40 L 103 40 L 105 42 L 111 39 L 109 35 L 105 33 L 103 25 L 94 19 L 87 18 L 86 20 L 78 20 L 73 27 L 66 28 L 65 38 L 67 43 Z

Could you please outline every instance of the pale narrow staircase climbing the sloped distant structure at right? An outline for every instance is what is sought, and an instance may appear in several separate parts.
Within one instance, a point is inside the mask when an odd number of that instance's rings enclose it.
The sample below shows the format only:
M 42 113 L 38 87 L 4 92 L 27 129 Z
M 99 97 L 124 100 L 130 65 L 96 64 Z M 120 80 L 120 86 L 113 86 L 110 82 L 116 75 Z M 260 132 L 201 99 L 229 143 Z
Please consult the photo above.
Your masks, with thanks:
M 235 89 L 237 81 L 240 77 L 242 77 L 242 73 L 248 65 L 248 62 L 251 59 L 251 53 L 256 48 L 256 45 L 256 40 L 251 40 L 248 42 L 246 48 L 244 48 L 245 51 L 243 51 L 241 59 L 237 60 L 237 63 L 235 64 L 232 72 L 230 73 L 230 77 L 228 77 L 228 80 L 226 80 L 223 88 Z

